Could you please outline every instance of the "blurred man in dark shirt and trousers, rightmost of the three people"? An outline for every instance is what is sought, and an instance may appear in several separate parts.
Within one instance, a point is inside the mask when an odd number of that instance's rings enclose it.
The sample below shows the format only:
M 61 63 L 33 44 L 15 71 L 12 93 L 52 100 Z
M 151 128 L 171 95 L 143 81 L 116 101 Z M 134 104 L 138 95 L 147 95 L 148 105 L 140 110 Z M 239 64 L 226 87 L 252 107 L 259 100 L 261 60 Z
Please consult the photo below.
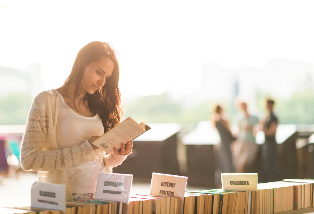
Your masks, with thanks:
M 276 142 L 276 131 L 278 119 L 273 112 L 274 101 L 268 99 L 266 102 L 266 115 L 261 121 L 265 134 L 265 142 L 262 145 L 261 156 L 263 161 L 263 174 L 267 182 L 278 179 L 278 146 Z

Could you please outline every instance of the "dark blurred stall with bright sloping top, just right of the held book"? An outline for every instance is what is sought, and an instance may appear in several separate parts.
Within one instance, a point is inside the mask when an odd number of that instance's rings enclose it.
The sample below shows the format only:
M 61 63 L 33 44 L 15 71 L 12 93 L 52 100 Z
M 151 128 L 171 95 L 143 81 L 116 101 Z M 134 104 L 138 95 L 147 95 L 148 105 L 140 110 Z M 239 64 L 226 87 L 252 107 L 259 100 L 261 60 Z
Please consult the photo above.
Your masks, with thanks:
M 133 177 L 151 179 L 152 173 L 179 175 L 176 123 L 148 124 L 151 129 L 133 141 L 133 152 L 114 173 L 133 174 Z

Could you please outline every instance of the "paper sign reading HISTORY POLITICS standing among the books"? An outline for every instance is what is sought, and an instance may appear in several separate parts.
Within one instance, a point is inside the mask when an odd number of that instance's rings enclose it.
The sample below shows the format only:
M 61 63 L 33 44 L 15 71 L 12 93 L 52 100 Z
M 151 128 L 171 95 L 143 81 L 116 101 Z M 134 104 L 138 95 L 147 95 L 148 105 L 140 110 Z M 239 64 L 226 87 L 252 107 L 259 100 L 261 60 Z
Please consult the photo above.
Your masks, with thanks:
M 149 191 L 150 195 L 180 197 L 180 213 L 182 214 L 186 187 L 187 177 L 153 172 Z

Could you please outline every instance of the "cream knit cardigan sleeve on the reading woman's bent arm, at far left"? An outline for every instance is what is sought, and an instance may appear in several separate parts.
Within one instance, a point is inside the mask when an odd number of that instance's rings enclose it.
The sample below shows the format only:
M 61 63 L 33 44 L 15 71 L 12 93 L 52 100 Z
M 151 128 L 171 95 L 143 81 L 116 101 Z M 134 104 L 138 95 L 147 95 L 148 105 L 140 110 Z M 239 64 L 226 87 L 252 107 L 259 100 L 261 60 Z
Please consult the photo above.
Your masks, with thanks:
M 56 138 L 54 103 L 50 100 L 49 96 L 39 94 L 32 103 L 20 154 L 25 171 L 56 171 L 96 159 L 88 141 L 76 147 L 47 150 Z

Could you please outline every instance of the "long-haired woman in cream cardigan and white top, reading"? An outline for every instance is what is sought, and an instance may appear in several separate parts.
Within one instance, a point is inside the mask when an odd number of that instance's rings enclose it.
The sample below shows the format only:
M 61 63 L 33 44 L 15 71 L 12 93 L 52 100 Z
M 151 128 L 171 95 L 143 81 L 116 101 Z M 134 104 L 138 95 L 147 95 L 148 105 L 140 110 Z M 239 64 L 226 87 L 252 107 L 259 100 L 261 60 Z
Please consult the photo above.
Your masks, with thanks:
M 65 184 L 67 201 L 92 197 L 98 173 L 112 173 L 132 152 L 132 141 L 121 142 L 121 150 L 115 147 L 111 154 L 91 144 L 119 124 L 118 81 L 115 51 L 94 41 L 78 52 L 62 87 L 33 100 L 22 140 L 22 168 L 38 171 L 39 181 Z

